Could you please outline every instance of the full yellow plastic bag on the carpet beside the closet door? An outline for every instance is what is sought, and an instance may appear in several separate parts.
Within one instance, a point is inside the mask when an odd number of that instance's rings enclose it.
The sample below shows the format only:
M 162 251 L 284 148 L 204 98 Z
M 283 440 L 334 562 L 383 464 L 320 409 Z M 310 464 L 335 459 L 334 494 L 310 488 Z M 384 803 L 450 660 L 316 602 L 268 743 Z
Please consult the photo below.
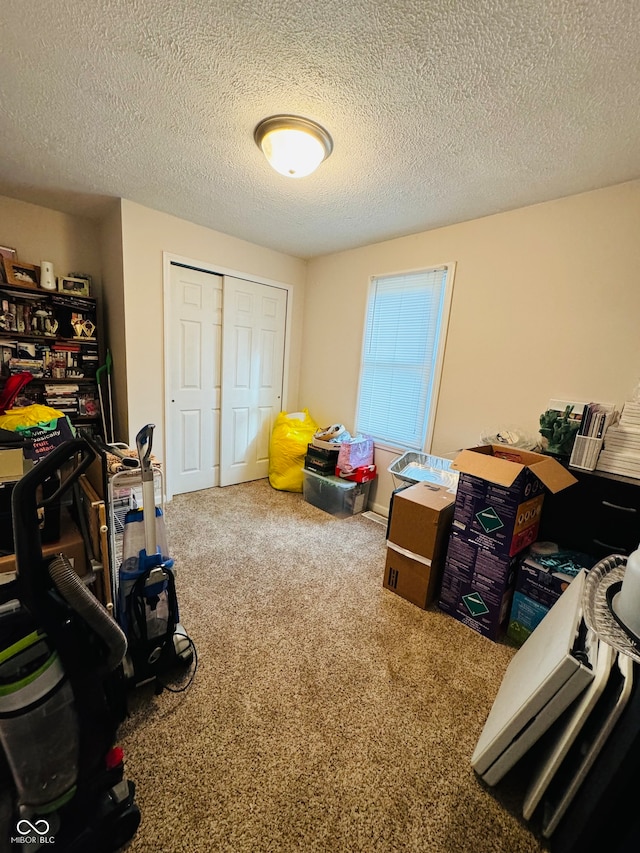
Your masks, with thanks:
M 304 457 L 317 429 L 307 409 L 293 415 L 280 412 L 269 443 L 269 482 L 274 489 L 302 491 Z

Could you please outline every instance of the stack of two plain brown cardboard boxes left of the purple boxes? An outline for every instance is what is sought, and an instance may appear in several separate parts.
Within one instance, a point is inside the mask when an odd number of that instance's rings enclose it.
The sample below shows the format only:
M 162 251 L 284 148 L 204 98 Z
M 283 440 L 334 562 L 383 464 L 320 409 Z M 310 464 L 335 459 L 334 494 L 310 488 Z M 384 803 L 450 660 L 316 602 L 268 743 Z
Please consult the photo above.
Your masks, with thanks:
M 383 586 L 423 610 L 438 596 L 455 493 L 416 483 L 393 495 Z

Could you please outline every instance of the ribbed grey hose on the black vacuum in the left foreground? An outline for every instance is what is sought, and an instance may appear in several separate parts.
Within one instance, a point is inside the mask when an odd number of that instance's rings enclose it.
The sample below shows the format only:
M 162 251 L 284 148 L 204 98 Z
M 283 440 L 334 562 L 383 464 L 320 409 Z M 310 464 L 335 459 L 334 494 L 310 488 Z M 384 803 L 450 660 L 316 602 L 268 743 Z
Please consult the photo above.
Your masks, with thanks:
M 127 637 L 98 599 L 86 588 L 64 554 L 49 564 L 49 575 L 58 592 L 105 642 L 109 656 L 107 666 L 114 670 L 127 652 Z

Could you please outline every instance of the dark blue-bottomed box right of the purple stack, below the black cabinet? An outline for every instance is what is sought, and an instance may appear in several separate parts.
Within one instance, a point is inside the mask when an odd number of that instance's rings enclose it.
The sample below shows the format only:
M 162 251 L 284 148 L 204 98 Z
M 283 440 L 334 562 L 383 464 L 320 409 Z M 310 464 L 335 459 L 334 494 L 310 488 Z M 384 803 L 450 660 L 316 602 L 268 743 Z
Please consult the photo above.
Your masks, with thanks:
M 522 645 L 581 569 L 597 561 L 580 551 L 526 555 L 517 570 L 507 636 Z

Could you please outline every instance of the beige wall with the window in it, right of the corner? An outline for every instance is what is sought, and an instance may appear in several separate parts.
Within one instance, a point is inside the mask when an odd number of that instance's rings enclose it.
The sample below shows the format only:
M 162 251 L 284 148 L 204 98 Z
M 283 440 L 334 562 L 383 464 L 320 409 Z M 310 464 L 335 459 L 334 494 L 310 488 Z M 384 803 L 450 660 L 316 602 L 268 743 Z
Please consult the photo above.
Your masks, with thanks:
M 640 379 L 639 233 L 635 181 L 311 261 L 300 405 L 353 429 L 370 276 L 447 261 L 457 268 L 431 452 L 509 424 L 537 434 L 553 397 L 622 403 Z M 377 459 L 378 510 L 393 458 Z

